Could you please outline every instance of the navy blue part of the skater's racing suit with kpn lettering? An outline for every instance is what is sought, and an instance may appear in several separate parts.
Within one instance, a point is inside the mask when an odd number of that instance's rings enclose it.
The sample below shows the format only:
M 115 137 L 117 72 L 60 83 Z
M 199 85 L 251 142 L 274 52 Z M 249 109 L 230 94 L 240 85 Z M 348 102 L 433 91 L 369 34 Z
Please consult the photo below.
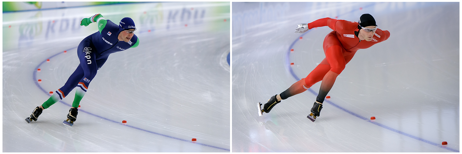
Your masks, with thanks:
M 125 33 L 124 30 L 107 20 L 102 30 L 87 36 L 80 42 L 77 47 L 80 64 L 66 84 L 56 91 L 60 99 L 66 97 L 76 86 L 86 92 L 97 70 L 103 66 L 109 54 L 138 46 L 139 39 L 136 35 L 133 35 L 129 42 L 118 40 L 118 35 Z

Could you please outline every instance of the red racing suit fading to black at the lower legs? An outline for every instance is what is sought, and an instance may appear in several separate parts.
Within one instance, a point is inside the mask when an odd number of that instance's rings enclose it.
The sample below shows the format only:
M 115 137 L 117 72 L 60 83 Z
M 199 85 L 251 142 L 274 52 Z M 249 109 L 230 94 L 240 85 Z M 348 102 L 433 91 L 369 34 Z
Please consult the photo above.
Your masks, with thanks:
M 287 99 L 306 91 L 315 83 L 322 80 L 316 101 L 318 103 L 324 102 L 324 98 L 334 85 L 335 79 L 345 69 L 346 63 L 350 62 L 356 51 L 387 40 L 390 36 L 388 31 L 377 29 L 371 41 L 361 41 L 358 35 L 362 29 L 356 22 L 326 17 L 308 23 L 309 29 L 322 26 L 328 26 L 334 30 L 327 34 L 322 44 L 326 58 L 306 78 L 297 81 L 286 91 L 283 91 L 280 94 L 281 99 Z

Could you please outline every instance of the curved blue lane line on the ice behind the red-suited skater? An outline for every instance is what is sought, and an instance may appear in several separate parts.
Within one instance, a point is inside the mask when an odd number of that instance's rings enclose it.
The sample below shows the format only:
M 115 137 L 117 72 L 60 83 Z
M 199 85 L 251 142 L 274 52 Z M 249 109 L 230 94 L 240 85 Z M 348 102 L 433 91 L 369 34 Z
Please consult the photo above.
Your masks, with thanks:
M 373 6 L 373 5 L 368 5 L 368 6 L 365 6 L 365 7 L 370 7 L 370 6 Z M 365 7 L 364 7 L 364 8 L 365 8 Z M 348 12 L 348 13 L 353 13 L 353 12 L 354 12 L 354 10 L 351 11 L 351 12 Z M 343 15 L 345 15 L 345 14 L 343 14 Z M 307 31 L 306 33 L 300 35 L 300 37 L 303 37 L 303 36 L 304 36 L 305 34 L 307 34 L 308 32 L 310 32 L 310 30 Z M 297 38 L 296 40 L 294 40 L 294 41 L 292 42 L 292 44 L 289 46 L 289 49 L 287 50 L 287 54 L 286 54 L 286 68 L 289 70 L 289 73 L 292 74 L 292 77 L 295 78 L 295 80 L 297 80 L 297 81 L 300 80 L 300 78 L 293 72 L 293 69 L 292 69 L 292 67 L 290 66 L 290 59 L 289 59 L 289 57 L 290 57 L 290 53 L 291 53 L 290 50 L 291 50 L 292 47 L 295 45 L 295 43 L 297 43 L 298 40 L 299 40 L 299 38 Z M 318 95 L 318 93 L 316 93 L 315 91 L 313 91 L 311 88 L 308 89 L 308 91 L 310 91 L 310 92 L 311 92 L 313 95 L 315 95 L 315 96 Z M 398 130 L 396 130 L 396 129 L 390 128 L 389 126 L 386 126 L 386 125 L 383 125 L 383 124 L 380 124 L 380 123 L 377 123 L 377 122 L 372 122 L 372 121 L 369 120 L 368 118 L 363 117 L 363 116 L 361 116 L 361 115 L 359 115 L 359 114 L 356 114 L 356 113 L 354 113 L 354 112 L 352 112 L 352 111 L 349 111 L 349 110 L 347 110 L 347 109 L 345 109 L 345 108 L 342 108 L 342 107 L 340 107 L 339 105 L 337 105 L 337 104 L 335 104 L 335 103 L 333 103 L 333 102 L 331 102 L 331 101 L 325 100 L 324 102 L 327 102 L 327 103 L 331 104 L 332 106 L 334 106 L 335 108 L 339 108 L 340 110 L 345 111 L 345 112 L 348 113 L 348 114 L 351 114 L 351 115 L 353 115 L 353 116 L 355 116 L 355 117 L 358 117 L 358 118 L 361 119 L 361 120 L 367 120 L 367 122 L 370 122 L 371 124 L 378 125 L 378 126 L 380 126 L 380 127 L 382 127 L 382 128 L 388 129 L 388 130 L 390 130 L 390 131 L 394 131 L 394 132 L 396 132 L 396 133 L 405 135 L 405 136 L 407 136 L 407 137 L 411 137 L 411 138 L 413 138 L 413 139 L 416 139 L 416 140 L 419 140 L 419 141 L 422 141 L 422 142 L 425 142 L 425 143 L 428 143 L 428 144 L 432 144 L 432 145 L 437 146 L 437 147 L 440 147 L 440 148 L 444 148 L 442 145 L 440 145 L 440 144 L 438 144 L 438 143 L 433 143 L 433 142 L 431 142 L 431 141 L 428 141 L 428 140 L 425 140 L 425 139 L 422 139 L 422 138 L 419 138 L 419 137 L 415 137 L 415 136 L 410 135 L 410 134 L 407 134 L 407 133 L 405 133 L 405 132 L 398 131 Z M 453 149 L 453 148 L 447 148 L 447 147 L 446 147 L 446 148 L 444 148 L 444 149 L 448 149 L 448 150 L 454 151 L 454 152 L 459 152 L 459 150 Z

